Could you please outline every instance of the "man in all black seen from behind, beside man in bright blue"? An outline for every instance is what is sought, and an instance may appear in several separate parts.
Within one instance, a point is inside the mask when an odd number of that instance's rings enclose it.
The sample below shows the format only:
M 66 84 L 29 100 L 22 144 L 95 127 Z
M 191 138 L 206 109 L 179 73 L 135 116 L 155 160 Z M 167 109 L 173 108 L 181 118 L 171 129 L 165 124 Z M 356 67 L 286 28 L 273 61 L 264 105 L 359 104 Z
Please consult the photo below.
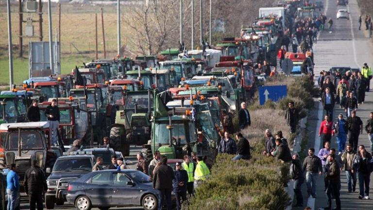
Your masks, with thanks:
M 36 160 L 31 161 L 31 168 L 26 171 L 24 179 L 25 192 L 29 196 L 30 210 L 43 210 L 43 192 L 47 192 L 47 179 Z

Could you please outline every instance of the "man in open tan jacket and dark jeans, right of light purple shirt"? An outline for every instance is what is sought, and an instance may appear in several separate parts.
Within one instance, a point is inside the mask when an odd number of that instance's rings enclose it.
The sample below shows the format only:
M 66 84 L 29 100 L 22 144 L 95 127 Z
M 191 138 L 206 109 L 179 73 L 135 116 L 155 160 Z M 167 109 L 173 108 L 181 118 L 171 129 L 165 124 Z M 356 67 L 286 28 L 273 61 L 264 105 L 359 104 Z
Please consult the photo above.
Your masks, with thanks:
M 356 190 L 356 172 L 353 172 L 353 164 L 356 157 L 356 152 L 352 150 L 352 145 L 348 144 L 346 151 L 342 154 L 343 168 L 346 173 L 348 192 Z

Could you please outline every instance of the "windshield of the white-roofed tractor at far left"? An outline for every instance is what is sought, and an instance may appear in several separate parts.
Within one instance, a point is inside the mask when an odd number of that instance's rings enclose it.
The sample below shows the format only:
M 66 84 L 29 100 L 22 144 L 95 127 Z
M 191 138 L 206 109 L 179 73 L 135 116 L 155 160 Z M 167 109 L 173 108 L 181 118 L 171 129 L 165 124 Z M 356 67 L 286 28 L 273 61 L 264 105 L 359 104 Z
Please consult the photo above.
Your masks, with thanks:
M 18 149 L 18 132 L 10 132 L 10 136 L 6 139 L 6 150 Z M 37 131 L 21 131 L 21 149 L 43 149 L 43 139 Z

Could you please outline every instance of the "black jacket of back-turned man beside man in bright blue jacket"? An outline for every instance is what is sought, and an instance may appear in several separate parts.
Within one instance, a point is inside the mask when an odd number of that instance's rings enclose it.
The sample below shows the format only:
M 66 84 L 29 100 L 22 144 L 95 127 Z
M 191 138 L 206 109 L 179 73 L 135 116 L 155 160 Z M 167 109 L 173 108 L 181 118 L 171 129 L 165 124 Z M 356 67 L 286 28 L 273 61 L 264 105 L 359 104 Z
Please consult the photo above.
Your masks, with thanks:
M 39 166 L 31 166 L 26 171 L 23 185 L 25 192 L 29 194 L 41 194 L 47 191 L 47 180 L 43 170 Z

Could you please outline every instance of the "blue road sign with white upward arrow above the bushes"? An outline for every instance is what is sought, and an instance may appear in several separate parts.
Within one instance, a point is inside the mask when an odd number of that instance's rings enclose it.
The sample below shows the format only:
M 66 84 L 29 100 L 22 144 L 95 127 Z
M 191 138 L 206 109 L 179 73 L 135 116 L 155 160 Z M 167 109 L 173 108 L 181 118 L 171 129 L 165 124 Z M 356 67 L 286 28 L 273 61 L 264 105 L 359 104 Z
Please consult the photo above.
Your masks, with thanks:
M 260 86 L 259 87 L 259 104 L 264 105 L 266 101 L 277 102 L 288 95 L 286 86 Z

